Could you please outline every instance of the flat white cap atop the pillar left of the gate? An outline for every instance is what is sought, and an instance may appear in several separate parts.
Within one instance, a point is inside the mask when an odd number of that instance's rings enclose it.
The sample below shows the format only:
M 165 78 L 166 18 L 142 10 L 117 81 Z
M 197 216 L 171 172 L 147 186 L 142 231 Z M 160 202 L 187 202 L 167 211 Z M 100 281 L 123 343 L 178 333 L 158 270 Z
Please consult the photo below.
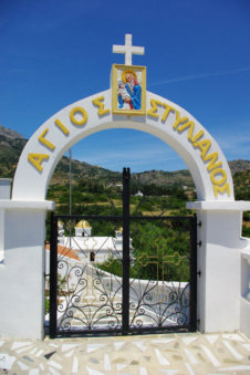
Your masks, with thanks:
M 52 200 L 7 200 L 0 199 L 0 209 L 6 210 L 54 210 L 55 204 Z

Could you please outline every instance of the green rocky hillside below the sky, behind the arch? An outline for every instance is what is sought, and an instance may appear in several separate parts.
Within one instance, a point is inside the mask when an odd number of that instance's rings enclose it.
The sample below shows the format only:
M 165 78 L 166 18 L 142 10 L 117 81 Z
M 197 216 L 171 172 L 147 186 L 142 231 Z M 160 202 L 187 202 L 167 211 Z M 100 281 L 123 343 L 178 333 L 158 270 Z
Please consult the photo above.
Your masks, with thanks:
M 0 126 L 0 176 L 13 178 L 20 154 L 25 145 L 24 137 L 9 128 Z M 232 160 L 229 162 L 232 171 L 236 198 L 250 200 L 250 162 Z M 62 157 L 52 176 L 50 186 L 58 186 L 54 190 L 60 190 L 59 186 L 69 183 L 70 160 Z M 82 186 L 92 184 L 94 186 L 108 186 L 122 184 L 122 171 L 112 171 L 98 166 L 93 166 L 84 162 L 72 159 L 71 163 L 72 184 Z M 66 189 L 66 187 L 65 187 Z M 132 174 L 132 190 L 140 190 L 144 195 L 173 195 L 177 189 L 179 195 L 185 195 L 195 199 L 195 185 L 189 170 L 148 170 L 138 174 Z M 53 189 L 52 189 L 53 190 Z M 185 191 L 184 191 L 185 190 Z M 185 192 L 185 195 L 184 195 Z

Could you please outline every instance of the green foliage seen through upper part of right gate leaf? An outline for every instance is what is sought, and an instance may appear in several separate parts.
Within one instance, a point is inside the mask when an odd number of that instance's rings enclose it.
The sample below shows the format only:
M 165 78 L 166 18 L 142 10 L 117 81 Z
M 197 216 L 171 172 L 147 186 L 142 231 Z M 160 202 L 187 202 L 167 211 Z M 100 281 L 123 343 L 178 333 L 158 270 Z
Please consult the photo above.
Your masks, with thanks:
M 164 222 L 136 223 L 132 230 L 135 264 L 131 277 L 145 280 L 188 281 L 188 233 Z

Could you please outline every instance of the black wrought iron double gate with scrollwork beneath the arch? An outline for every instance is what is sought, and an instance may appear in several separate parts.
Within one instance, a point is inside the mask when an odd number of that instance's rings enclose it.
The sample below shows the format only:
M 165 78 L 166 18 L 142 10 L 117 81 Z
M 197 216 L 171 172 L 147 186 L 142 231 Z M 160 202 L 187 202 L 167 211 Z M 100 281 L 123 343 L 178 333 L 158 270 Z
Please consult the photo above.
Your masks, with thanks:
M 51 216 L 51 337 L 196 330 L 196 216 L 134 209 L 129 179 L 114 215 Z

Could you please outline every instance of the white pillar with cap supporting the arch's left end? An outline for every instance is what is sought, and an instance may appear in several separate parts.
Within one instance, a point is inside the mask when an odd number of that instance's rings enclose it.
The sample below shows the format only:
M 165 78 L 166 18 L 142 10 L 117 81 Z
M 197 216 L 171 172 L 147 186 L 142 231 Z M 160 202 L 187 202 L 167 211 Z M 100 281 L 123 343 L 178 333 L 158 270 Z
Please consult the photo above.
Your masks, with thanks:
M 0 336 L 44 336 L 44 241 L 50 201 L 0 200 L 4 261 L 0 265 Z

